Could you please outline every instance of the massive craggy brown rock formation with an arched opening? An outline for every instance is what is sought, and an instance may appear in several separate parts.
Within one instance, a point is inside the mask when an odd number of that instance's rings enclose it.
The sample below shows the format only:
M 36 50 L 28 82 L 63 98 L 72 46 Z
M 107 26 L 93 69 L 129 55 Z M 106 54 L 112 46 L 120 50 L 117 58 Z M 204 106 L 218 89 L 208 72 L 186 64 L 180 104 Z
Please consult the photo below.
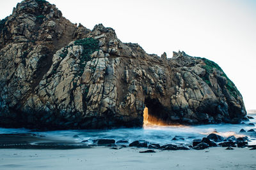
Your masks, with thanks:
M 39 129 L 239 123 L 243 98 L 211 60 L 168 59 L 122 43 L 102 24 L 72 24 L 56 6 L 25 0 L 0 21 L 0 125 Z

